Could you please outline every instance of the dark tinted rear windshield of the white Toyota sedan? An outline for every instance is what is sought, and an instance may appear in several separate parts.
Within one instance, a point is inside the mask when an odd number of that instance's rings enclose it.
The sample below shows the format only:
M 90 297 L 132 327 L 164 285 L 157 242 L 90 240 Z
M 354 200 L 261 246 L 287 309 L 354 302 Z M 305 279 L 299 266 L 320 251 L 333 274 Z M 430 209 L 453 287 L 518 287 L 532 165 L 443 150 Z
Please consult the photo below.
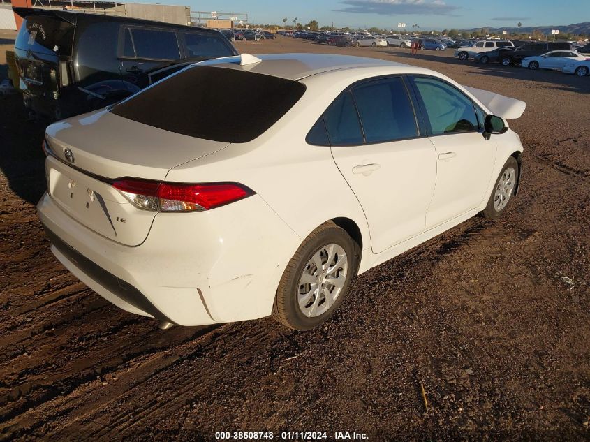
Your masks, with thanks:
M 191 137 L 249 142 L 279 121 L 304 91 L 293 80 L 197 66 L 154 84 L 111 112 Z

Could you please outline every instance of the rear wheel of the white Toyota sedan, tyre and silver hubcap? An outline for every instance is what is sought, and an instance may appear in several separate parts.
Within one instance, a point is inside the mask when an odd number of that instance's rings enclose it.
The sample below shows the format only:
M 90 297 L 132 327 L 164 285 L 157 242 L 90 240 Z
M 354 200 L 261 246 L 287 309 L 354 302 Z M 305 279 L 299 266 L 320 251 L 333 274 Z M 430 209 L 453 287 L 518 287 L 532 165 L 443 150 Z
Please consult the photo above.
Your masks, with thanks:
M 346 296 L 356 272 L 357 256 L 360 256 L 360 248 L 346 230 L 332 221 L 316 228 L 305 238 L 283 272 L 272 306 L 273 318 L 300 331 L 311 330 L 326 321 Z M 326 274 L 330 267 L 332 271 Z M 337 279 L 337 285 L 330 283 Z M 335 292 L 335 299 L 330 299 Z

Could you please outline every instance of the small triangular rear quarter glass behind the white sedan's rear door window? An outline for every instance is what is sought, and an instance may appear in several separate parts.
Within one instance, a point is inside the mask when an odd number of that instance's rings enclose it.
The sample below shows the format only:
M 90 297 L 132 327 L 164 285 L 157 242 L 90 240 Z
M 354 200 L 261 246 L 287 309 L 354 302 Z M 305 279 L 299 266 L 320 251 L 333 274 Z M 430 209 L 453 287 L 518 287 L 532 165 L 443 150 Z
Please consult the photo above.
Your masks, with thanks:
M 339 96 L 324 113 L 332 146 L 362 145 L 364 138 L 350 92 Z

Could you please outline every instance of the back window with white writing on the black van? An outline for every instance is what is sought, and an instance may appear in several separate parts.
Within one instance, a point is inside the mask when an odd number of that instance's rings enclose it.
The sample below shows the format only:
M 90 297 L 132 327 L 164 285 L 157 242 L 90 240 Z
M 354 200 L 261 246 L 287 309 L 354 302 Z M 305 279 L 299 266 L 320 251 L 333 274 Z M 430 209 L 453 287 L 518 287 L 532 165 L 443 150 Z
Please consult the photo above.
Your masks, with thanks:
M 74 25 L 53 17 L 29 15 L 17 35 L 15 47 L 40 54 L 71 55 Z

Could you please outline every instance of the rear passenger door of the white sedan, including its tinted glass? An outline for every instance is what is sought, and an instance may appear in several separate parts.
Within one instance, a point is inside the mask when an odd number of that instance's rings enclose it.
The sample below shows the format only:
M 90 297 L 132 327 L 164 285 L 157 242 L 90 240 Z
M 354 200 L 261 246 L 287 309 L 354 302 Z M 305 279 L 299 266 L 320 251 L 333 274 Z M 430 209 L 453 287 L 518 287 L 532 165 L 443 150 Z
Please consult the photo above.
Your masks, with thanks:
M 404 78 L 355 85 L 324 120 L 334 161 L 367 216 L 374 253 L 424 231 L 436 159 L 418 129 Z

